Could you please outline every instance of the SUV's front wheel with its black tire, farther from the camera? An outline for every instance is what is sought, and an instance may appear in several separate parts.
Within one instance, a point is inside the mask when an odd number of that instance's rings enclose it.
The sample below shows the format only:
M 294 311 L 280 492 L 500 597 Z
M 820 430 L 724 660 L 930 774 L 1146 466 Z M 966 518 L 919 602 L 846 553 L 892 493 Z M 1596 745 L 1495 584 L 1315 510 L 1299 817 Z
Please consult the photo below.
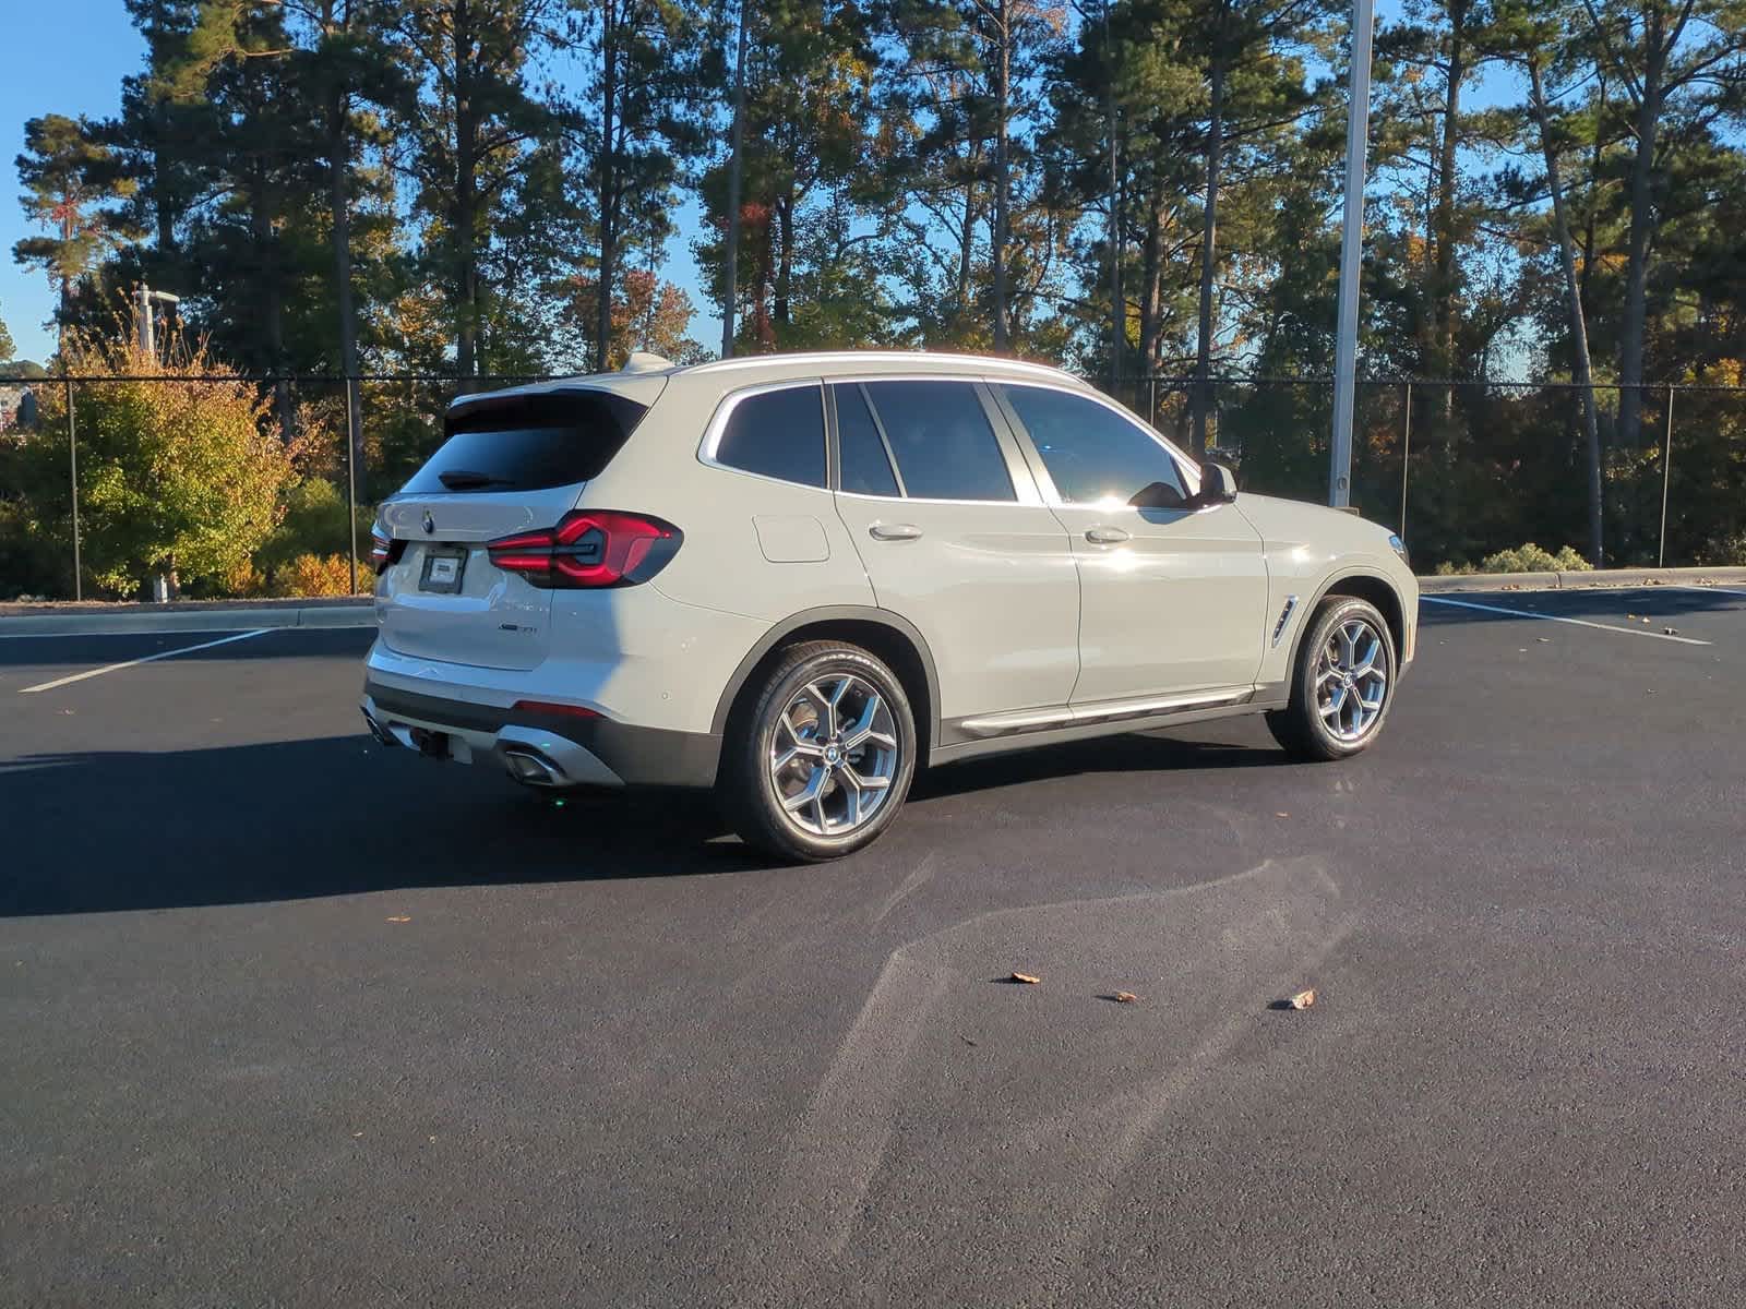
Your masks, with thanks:
M 1290 705 L 1268 714 L 1268 728 L 1297 759 L 1346 759 L 1383 730 L 1395 672 L 1395 639 L 1376 606 L 1330 595 L 1297 651 Z

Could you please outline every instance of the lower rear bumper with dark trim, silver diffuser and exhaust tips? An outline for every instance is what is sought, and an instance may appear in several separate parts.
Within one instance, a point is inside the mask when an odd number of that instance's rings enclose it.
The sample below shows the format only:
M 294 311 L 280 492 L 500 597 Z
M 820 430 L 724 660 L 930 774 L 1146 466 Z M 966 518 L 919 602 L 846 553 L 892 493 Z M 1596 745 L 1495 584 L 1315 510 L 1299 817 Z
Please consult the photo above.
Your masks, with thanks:
M 491 763 L 529 785 L 711 787 L 721 759 L 721 737 L 520 712 L 405 691 L 375 677 L 363 682 L 361 709 L 384 744 Z M 440 747 L 430 745 L 433 733 L 445 738 Z

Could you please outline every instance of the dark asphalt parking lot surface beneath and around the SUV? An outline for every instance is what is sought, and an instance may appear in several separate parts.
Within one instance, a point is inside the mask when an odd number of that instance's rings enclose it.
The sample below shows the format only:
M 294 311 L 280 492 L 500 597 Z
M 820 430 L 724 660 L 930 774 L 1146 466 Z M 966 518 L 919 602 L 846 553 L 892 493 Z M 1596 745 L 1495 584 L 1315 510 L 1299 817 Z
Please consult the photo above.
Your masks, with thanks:
M 1743 1304 L 1746 590 L 1449 599 L 1351 763 L 828 867 L 382 750 L 367 632 L 0 641 L 0 1302 Z

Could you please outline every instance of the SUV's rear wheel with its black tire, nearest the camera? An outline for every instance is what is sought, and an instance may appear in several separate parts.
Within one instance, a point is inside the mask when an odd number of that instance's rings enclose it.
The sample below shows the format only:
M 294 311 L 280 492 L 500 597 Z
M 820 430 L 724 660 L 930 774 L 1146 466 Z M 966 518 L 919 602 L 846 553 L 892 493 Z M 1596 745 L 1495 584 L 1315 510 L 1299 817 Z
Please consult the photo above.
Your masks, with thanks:
M 845 691 L 836 689 L 845 684 Z M 852 712 L 857 721 L 868 712 L 870 691 L 880 698 L 887 716 L 878 717 L 878 731 L 852 752 L 831 756 L 833 737 L 826 731 L 824 712 L 835 710 L 826 710 L 808 688 L 819 688 L 826 696 L 840 695 L 845 716 Z M 800 733 L 793 731 L 794 716 L 805 719 L 808 709 L 815 716 L 810 726 L 817 742 L 805 735 L 807 723 L 801 723 Z M 784 730 L 784 721 L 789 730 Z M 843 728 L 838 724 L 835 740 L 852 735 Z M 894 757 L 887 757 L 878 744 L 883 738 L 894 742 Z M 807 754 L 794 757 L 780 773 L 773 771 L 779 740 L 786 740 L 789 749 L 821 750 L 817 763 Z M 723 817 L 747 845 L 787 860 L 842 859 L 871 845 L 896 820 L 915 778 L 915 714 L 896 674 L 857 646 L 808 641 L 784 649 L 763 677 L 747 682 L 740 693 L 721 744 L 716 796 Z M 822 780 L 817 771 L 824 773 Z M 878 798 L 871 799 L 871 782 L 880 773 L 887 773 L 887 785 L 876 787 Z M 868 785 L 863 789 L 856 782 Z M 817 792 L 815 799 L 791 812 L 791 805 L 808 791 Z M 863 805 L 868 815 L 850 824 L 849 819 Z M 835 820 L 843 824 L 840 833 L 829 831 Z

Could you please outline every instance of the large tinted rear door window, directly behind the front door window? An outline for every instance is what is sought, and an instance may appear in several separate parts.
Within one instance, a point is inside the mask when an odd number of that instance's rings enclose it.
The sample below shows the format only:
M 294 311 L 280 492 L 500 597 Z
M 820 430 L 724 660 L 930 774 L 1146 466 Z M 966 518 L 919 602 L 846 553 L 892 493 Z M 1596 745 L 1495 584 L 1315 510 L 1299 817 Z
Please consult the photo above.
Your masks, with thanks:
M 1014 501 L 1013 476 L 971 382 L 866 382 L 904 490 L 917 499 Z

